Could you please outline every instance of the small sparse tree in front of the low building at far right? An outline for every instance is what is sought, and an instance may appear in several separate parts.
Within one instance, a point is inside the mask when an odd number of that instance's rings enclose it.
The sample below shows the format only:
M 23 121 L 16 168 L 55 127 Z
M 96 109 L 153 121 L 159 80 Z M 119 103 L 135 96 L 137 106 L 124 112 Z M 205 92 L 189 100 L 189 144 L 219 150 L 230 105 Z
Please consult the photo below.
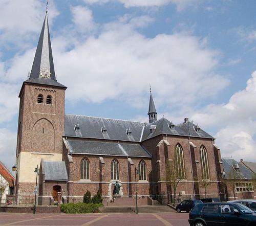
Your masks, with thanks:
M 237 183 L 241 182 L 242 176 L 239 170 L 234 168 L 230 169 L 225 178 L 223 178 L 223 183 L 226 185 L 227 188 L 231 189 L 234 195 L 234 199 L 236 200 L 237 194 Z

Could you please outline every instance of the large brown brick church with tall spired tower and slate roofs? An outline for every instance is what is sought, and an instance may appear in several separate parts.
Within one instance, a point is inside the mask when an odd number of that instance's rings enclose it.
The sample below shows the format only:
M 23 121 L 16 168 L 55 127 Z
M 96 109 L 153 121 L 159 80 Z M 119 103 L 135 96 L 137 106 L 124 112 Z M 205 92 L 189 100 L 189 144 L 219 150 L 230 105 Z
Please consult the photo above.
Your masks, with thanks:
M 74 75 L 75 76 L 75 75 Z M 61 76 L 59 76 L 61 79 Z M 65 114 L 67 87 L 57 82 L 47 14 L 32 70 L 19 93 L 15 194 L 22 202 L 34 197 L 38 165 L 38 200 L 82 200 L 98 190 L 112 200 L 114 184 L 120 197 L 157 197 L 162 204 L 173 194 L 166 163 L 175 162 L 183 197 L 204 197 L 200 180 L 211 183 L 210 197 L 222 193 L 220 149 L 215 139 L 187 118 L 175 125 L 157 119 L 150 92 L 148 122 Z M 136 174 L 137 173 L 137 174 Z

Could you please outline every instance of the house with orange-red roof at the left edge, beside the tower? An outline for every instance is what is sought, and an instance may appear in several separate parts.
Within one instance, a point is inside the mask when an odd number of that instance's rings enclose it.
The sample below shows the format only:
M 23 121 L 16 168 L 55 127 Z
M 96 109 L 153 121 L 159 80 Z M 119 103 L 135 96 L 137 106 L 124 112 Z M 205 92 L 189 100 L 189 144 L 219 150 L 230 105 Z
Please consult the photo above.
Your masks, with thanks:
M 5 203 L 8 200 L 7 195 L 13 194 L 14 177 L 11 172 L 0 161 L 0 200 Z

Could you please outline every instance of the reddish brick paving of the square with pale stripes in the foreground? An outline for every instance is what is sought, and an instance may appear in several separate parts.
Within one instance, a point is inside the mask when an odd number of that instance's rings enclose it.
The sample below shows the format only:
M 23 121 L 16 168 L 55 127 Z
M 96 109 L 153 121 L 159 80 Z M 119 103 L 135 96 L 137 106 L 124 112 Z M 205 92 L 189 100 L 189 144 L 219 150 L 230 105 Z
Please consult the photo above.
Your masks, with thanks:
M 0 213 L 0 225 L 189 226 L 188 213 L 20 214 Z

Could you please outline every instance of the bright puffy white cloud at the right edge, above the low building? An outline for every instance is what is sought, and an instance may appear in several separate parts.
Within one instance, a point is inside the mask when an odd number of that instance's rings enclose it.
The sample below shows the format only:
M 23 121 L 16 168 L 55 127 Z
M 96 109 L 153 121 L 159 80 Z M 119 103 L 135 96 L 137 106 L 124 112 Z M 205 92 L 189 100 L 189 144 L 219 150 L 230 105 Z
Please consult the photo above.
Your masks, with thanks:
M 217 128 L 215 137 L 222 156 L 256 161 L 256 71 L 242 91 L 233 94 L 226 104 L 211 104 L 192 116 L 202 127 Z

